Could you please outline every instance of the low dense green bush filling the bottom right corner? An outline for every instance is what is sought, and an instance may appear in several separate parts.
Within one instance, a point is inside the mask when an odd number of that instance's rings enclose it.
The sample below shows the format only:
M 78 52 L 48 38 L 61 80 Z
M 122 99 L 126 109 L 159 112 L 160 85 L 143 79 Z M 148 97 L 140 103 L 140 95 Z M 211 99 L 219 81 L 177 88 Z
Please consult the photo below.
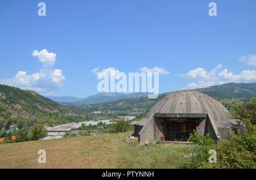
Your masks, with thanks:
M 203 146 L 191 161 L 184 164 L 184 168 L 255 168 L 256 162 L 255 135 L 230 135 L 217 145 Z M 217 163 L 209 163 L 209 150 L 217 152 Z

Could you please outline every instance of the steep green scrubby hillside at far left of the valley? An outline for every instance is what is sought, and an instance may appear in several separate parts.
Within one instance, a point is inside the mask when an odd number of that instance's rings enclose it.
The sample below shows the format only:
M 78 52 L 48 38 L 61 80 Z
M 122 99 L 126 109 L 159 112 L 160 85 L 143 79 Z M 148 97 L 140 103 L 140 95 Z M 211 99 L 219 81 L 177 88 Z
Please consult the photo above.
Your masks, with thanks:
M 0 130 L 25 120 L 53 125 L 84 118 L 85 113 L 57 104 L 34 91 L 0 84 Z

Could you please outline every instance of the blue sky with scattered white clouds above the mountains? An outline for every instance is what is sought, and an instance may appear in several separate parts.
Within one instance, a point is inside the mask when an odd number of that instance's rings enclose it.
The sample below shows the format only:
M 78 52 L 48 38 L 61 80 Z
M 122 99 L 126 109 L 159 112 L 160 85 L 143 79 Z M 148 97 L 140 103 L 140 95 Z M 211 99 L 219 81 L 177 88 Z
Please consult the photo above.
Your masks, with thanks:
M 97 67 L 168 71 L 160 93 L 256 82 L 255 19 L 255 0 L 2 0 L 0 83 L 86 97 L 97 93 Z

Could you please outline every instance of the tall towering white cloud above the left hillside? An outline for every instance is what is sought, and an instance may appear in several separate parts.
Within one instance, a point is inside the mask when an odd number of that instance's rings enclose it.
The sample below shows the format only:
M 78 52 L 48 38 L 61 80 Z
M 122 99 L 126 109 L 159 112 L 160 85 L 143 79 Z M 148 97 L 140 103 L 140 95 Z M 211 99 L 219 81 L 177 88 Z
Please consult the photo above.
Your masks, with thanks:
M 42 62 L 42 68 L 39 72 L 27 74 L 26 71 L 19 71 L 14 78 L 0 80 L 0 83 L 47 94 L 59 91 L 63 87 L 65 76 L 62 74 L 62 70 L 53 69 L 56 54 L 43 49 L 40 52 L 34 50 L 32 55 L 38 57 L 39 61 Z

